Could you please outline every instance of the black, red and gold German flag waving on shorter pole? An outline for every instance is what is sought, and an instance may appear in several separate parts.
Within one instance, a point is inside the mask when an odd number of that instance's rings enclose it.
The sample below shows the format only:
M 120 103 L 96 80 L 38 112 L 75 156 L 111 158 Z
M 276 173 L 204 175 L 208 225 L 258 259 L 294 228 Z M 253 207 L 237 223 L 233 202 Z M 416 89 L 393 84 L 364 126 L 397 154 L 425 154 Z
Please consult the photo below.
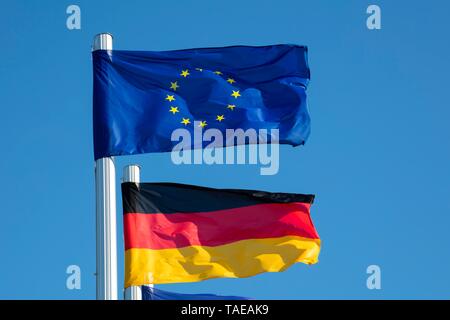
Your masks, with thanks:
M 318 261 L 313 195 L 122 183 L 125 287 L 244 278 Z

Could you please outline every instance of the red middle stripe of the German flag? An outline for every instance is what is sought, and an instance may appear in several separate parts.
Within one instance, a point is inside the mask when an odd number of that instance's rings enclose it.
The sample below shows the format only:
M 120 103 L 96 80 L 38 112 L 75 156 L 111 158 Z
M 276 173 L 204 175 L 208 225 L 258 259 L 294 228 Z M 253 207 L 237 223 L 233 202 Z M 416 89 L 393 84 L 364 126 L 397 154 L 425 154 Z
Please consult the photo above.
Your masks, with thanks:
M 218 246 L 283 236 L 318 239 L 309 208 L 310 204 L 292 202 L 199 213 L 127 213 L 125 249 Z

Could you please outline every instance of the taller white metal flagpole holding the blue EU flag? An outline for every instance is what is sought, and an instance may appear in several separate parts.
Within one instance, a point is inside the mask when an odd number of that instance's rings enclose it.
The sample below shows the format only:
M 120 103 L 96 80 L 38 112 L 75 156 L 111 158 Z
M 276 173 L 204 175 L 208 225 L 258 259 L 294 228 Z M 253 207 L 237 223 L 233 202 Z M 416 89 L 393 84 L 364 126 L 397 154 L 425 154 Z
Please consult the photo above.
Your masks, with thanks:
M 112 50 L 112 35 L 95 36 L 92 51 Z M 116 170 L 112 157 L 95 161 L 97 300 L 117 300 Z

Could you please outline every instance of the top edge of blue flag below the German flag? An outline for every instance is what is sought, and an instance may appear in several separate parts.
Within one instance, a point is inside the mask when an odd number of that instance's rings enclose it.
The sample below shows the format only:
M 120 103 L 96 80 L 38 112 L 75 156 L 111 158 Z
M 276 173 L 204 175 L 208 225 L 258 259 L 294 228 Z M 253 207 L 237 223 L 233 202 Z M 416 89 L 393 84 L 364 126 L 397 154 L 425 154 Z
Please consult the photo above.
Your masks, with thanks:
M 142 300 L 250 300 L 237 296 L 218 296 L 215 294 L 186 294 L 169 292 L 155 287 L 142 286 Z

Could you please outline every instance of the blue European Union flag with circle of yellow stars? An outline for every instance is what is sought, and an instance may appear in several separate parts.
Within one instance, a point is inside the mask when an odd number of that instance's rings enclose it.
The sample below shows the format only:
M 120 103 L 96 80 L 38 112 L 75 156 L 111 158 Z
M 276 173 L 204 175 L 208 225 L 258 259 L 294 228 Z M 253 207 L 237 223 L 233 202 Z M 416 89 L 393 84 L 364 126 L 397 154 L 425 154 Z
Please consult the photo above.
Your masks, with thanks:
M 172 151 L 179 142 L 171 141 L 171 134 L 179 128 L 191 134 L 194 128 L 214 128 L 223 136 L 226 129 L 269 130 L 266 134 L 278 129 L 270 140 L 293 146 L 308 138 L 305 46 L 97 50 L 92 55 L 95 159 Z M 222 145 L 249 143 L 233 140 Z M 191 141 L 189 148 L 210 143 Z

